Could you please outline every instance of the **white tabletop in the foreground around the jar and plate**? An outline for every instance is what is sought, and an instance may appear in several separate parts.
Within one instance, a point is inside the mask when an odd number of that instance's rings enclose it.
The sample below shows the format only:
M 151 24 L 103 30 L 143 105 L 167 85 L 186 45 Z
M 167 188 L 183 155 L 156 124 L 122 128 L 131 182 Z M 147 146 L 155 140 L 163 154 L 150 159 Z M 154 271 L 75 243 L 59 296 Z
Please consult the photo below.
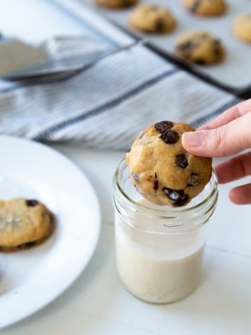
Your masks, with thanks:
M 251 334 L 251 207 L 229 202 L 230 184 L 220 186 L 198 288 L 173 304 L 147 304 L 132 297 L 116 273 L 112 176 L 124 153 L 66 145 L 54 149 L 93 184 L 102 211 L 100 241 L 88 267 L 63 295 L 1 335 Z

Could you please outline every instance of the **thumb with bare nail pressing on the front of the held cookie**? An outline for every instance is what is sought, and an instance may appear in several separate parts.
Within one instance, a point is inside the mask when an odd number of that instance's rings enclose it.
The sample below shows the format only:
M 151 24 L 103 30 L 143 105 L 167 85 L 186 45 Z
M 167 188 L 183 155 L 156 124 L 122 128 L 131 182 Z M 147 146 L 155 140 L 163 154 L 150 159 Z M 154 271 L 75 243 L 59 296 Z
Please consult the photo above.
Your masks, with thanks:
M 215 129 L 183 133 L 185 150 L 197 156 L 223 157 L 251 147 L 251 114 Z

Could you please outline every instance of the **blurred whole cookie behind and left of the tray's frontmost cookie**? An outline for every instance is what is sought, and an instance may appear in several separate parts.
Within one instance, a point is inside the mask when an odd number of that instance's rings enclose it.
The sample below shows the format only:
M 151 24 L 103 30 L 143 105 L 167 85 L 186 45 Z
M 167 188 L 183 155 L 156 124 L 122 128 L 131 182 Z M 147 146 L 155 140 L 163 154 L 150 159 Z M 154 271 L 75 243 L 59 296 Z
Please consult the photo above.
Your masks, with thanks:
M 164 34 L 172 31 L 176 20 L 167 8 L 143 3 L 128 18 L 131 27 L 146 33 Z

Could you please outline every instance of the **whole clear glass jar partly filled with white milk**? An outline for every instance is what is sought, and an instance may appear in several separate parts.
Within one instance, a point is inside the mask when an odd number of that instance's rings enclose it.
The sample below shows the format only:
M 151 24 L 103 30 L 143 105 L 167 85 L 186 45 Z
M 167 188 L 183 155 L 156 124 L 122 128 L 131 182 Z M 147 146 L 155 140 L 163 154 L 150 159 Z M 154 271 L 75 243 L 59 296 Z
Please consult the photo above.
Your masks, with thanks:
M 126 161 L 114 174 L 116 263 L 132 295 L 156 304 L 176 301 L 197 285 L 206 244 L 206 223 L 218 200 L 215 172 L 184 207 L 145 200 L 130 180 Z

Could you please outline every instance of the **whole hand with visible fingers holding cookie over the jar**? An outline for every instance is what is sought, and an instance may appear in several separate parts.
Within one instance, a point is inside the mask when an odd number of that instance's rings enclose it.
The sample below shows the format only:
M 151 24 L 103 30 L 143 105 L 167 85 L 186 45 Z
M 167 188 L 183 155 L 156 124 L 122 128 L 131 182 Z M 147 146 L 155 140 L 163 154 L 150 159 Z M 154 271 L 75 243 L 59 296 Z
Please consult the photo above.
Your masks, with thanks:
M 191 154 L 224 157 L 251 148 L 251 99 L 229 108 L 195 132 L 184 133 L 183 147 Z M 251 151 L 215 167 L 220 184 L 251 174 Z M 235 204 L 251 204 L 251 183 L 233 188 L 229 198 Z

